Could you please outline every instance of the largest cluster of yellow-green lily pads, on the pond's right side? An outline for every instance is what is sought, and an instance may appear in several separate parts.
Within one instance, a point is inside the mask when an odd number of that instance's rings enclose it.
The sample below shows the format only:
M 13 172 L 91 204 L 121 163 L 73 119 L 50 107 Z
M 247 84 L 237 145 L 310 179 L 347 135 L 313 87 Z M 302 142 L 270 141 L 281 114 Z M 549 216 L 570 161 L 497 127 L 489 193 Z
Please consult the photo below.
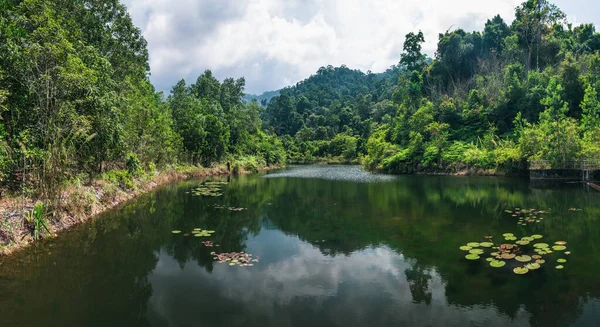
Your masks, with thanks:
M 492 268 L 501 268 L 508 265 L 517 275 L 524 275 L 530 271 L 540 269 L 547 260 L 545 255 L 555 252 L 562 252 L 567 249 L 565 241 L 556 241 L 550 246 L 548 243 L 540 241 L 542 235 L 533 234 L 524 236 L 520 239 L 513 233 L 502 234 L 503 241 L 495 243 L 492 236 L 485 236 L 483 242 L 469 242 L 459 247 L 461 251 L 467 252 L 465 259 L 476 261 L 482 256 L 487 256 L 485 260 Z M 569 255 L 570 252 L 564 252 Z M 559 264 L 555 268 L 563 269 L 563 264 L 567 262 L 565 258 L 556 260 Z

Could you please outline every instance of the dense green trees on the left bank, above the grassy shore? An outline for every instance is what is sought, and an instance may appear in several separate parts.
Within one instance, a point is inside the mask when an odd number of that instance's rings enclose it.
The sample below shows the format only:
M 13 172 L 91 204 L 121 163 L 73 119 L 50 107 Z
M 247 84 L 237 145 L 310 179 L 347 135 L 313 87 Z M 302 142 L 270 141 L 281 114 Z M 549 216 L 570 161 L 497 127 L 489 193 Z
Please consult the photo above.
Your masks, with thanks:
M 146 41 L 118 0 L 1 0 L 0 74 L 4 188 L 52 198 L 106 171 L 285 159 L 258 104 L 242 101 L 243 78 L 206 71 L 155 92 Z

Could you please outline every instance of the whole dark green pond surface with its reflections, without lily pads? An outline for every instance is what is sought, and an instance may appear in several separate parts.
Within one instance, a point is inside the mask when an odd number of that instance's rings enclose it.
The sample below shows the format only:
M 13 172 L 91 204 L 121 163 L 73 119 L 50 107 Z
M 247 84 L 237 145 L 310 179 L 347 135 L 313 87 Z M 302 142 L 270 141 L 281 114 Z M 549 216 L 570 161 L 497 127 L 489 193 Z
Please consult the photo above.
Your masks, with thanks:
M 600 325 L 600 193 L 581 184 L 356 167 L 229 181 L 217 198 L 187 193 L 200 181 L 164 187 L 3 258 L 0 326 Z M 517 227 L 503 212 L 515 207 L 550 214 Z M 171 234 L 195 227 L 220 247 Z M 563 239 L 572 254 L 518 276 L 458 250 L 505 232 Z

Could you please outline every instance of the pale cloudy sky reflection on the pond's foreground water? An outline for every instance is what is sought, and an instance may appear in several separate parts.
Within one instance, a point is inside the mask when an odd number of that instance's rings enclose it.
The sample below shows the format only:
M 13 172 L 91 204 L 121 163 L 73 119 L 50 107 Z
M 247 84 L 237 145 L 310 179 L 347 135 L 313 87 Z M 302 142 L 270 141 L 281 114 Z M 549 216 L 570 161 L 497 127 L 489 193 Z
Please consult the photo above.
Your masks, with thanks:
M 529 325 L 525 312 L 511 319 L 490 306 L 449 305 L 444 281 L 435 271 L 425 286 L 431 303 L 413 303 L 404 274 L 410 262 L 389 248 L 331 257 L 296 237 L 269 233 L 249 240 L 249 252 L 260 255 L 268 248 L 259 250 L 259 244 L 280 244 L 273 249 L 280 255 L 261 255 L 252 268 L 216 265 L 210 274 L 188 262 L 182 271 L 160 253 L 149 278 L 154 290 L 149 317 L 161 317 L 172 326 L 186 325 L 186 317 L 197 316 L 198 310 L 210 312 L 200 319 L 207 326 Z M 281 238 L 287 243 L 280 243 Z

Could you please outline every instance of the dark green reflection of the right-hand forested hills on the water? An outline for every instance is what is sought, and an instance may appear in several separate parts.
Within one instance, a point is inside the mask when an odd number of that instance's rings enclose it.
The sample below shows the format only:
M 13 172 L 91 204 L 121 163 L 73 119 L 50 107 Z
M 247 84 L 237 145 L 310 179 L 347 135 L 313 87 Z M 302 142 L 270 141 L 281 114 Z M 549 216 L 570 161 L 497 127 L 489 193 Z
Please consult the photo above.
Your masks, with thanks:
M 384 184 L 278 181 L 285 186 L 280 187 L 275 204 L 265 208 L 276 226 L 328 255 L 379 244 L 402 252 L 414 260 L 405 271 L 414 301 L 431 300 L 428 271 L 433 268 L 445 282 L 449 303 L 494 305 L 513 317 L 524 308 L 538 326 L 572 321 L 579 314 L 582 296 L 600 296 L 600 285 L 585 282 L 597 280 L 600 268 L 600 249 L 594 246 L 600 238 L 596 227 L 600 199 L 593 194 L 572 196 L 576 185 L 540 190 L 518 179 L 420 176 Z M 519 231 L 516 221 L 503 213 L 515 207 L 551 208 L 552 215 L 543 224 Z M 571 207 L 585 210 L 572 213 Z M 498 231 L 566 239 L 570 250 L 585 255 L 569 258 L 570 278 L 545 269 L 536 277 L 515 279 L 510 272 L 490 275 L 481 264 L 461 263 L 459 245 Z M 323 239 L 327 241 L 315 242 Z

